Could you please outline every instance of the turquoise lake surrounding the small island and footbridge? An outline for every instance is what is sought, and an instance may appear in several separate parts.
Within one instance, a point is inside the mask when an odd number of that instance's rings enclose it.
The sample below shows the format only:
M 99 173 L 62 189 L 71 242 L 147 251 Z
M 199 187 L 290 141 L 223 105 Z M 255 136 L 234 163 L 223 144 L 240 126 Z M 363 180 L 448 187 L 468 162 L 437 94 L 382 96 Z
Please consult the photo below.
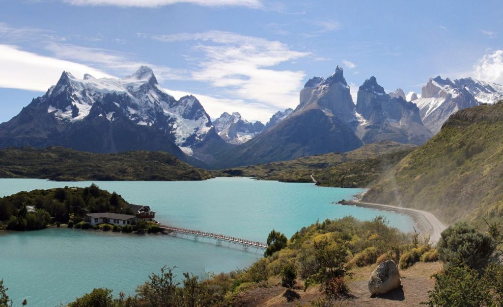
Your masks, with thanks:
M 39 179 L 0 179 L 0 197 L 19 191 L 52 187 L 89 186 L 92 182 L 53 182 Z M 265 242 L 274 228 L 288 237 L 304 226 L 352 215 L 370 220 L 383 215 L 390 226 L 412 231 L 404 215 L 333 204 L 351 199 L 363 189 L 317 187 L 311 183 L 216 178 L 206 181 L 98 181 L 100 188 L 116 191 L 127 201 L 147 204 L 162 224 L 220 233 Z M 8 295 L 20 305 L 54 306 L 108 287 L 134 294 L 151 272 L 176 266 L 178 276 L 189 271 L 242 269 L 262 256 L 262 250 L 219 247 L 206 239 L 104 233 L 92 230 L 45 229 L 0 233 L 0 279 Z

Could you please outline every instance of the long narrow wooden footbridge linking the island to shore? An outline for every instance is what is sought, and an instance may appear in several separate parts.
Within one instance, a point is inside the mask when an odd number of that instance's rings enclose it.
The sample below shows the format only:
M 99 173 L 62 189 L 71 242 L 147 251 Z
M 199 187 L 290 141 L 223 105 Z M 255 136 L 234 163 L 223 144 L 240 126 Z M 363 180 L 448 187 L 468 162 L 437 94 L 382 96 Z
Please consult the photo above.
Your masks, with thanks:
M 235 246 L 242 246 L 242 249 L 244 251 L 247 251 L 250 247 L 251 248 L 256 248 L 257 250 L 259 249 L 267 249 L 267 244 L 266 243 L 261 243 L 257 241 L 250 241 L 250 240 L 245 240 L 245 239 L 239 239 L 235 237 L 229 237 L 229 236 L 224 236 L 220 234 L 214 234 L 214 233 L 209 233 L 209 232 L 204 232 L 204 231 L 199 231 L 199 230 L 192 230 L 192 229 L 185 229 L 185 228 L 178 228 L 178 227 L 171 227 L 171 226 L 165 226 L 165 225 L 159 225 L 159 228 L 163 231 L 165 231 L 168 234 L 173 234 L 177 235 L 180 234 L 182 237 L 184 235 L 187 236 L 193 236 L 195 241 L 198 241 L 199 238 L 201 238 L 201 241 L 204 239 L 213 239 L 217 241 L 218 246 L 222 246 L 222 243 L 229 243 L 227 247 L 230 247 L 231 244 L 234 244 Z

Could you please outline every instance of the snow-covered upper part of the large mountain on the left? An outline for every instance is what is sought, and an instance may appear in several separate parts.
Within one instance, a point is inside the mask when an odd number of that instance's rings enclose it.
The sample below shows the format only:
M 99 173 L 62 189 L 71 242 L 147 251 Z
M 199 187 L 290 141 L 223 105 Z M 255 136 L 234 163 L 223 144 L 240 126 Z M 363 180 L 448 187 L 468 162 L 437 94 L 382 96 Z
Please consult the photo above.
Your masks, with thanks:
M 155 126 L 172 135 L 186 153 L 192 152 L 187 148 L 202 141 L 212 129 L 210 117 L 196 97 L 188 95 L 176 100 L 159 86 L 147 66 L 122 79 L 95 78 L 90 74 L 78 79 L 63 72 L 38 104 L 46 105 L 47 112 L 63 125 L 88 118 L 94 114 L 93 108 L 108 110 L 93 116 L 109 121 L 122 113 L 137 125 Z

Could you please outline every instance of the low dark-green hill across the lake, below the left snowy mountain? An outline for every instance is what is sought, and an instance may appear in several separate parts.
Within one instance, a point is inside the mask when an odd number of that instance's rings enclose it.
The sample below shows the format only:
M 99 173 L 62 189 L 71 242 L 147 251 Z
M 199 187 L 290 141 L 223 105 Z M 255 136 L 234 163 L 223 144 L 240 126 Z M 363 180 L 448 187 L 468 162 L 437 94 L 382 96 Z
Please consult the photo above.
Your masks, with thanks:
M 204 180 L 213 176 L 164 153 L 80 152 L 62 147 L 0 150 L 1 178 L 66 180 Z

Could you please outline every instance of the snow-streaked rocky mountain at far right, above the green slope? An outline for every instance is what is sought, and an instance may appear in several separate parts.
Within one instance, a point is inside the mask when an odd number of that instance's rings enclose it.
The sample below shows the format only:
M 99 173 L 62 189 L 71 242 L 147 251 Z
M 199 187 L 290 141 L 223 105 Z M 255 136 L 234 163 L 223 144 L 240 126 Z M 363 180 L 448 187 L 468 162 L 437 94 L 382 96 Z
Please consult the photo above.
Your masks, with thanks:
M 459 110 L 492 104 L 503 97 L 503 86 L 463 78 L 451 81 L 440 76 L 430 78 L 423 86 L 421 98 L 412 99 L 421 112 L 425 126 L 434 134 L 440 131 L 449 117 Z

